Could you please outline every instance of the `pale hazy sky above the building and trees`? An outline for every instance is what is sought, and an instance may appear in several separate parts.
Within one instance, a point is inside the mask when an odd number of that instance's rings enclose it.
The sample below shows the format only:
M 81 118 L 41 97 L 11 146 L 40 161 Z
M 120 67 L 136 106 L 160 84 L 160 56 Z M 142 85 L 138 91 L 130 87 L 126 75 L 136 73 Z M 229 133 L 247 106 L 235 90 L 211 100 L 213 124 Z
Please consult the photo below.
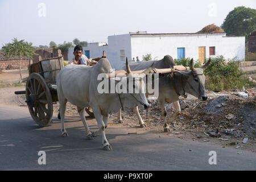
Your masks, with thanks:
M 197 32 L 221 26 L 237 6 L 255 0 L 0 0 L 0 48 L 13 38 L 34 46 L 53 41 L 108 42 L 108 36 Z

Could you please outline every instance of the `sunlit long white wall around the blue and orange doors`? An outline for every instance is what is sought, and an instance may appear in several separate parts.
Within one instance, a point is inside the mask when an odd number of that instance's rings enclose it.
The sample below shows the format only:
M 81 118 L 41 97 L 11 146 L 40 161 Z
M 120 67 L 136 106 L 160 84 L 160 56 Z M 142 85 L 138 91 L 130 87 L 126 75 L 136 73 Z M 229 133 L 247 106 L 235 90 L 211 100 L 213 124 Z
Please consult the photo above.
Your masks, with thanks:
M 225 37 L 225 34 L 182 34 L 182 35 L 133 35 L 131 36 L 131 56 L 151 53 L 152 59 L 162 59 L 171 55 L 177 59 L 177 48 L 185 48 L 185 57 L 199 59 L 199 47 L 205 47 L 209 57 L 209 47 L 215 47 L 215 56 L 226 59 L 245 59 L 245 37 Z

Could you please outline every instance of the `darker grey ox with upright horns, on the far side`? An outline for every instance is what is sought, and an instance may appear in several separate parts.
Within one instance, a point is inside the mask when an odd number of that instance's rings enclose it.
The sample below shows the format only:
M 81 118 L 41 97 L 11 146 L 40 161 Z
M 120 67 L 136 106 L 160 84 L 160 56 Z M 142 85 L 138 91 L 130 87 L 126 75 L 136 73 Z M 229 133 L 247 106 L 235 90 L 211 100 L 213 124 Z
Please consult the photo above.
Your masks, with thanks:
M 154 63 L 154 68 L 173 68 L 175 64 L 171 56 L 164 56 L 162 60 L 159 61 L 144 61 L 131 63 L 130 68 L 132 71 L 138 71 L 148 68 L 149 65 Z M 162 116 L 164 121 L 164 132 L 169 132 L 170 127 L 167 125 L 167 111 L 165 102 L 173 103 L 176 109 L 175 115 L 180 114 L 179 96 L 185 96 L 185 93 L 192 94 L 193 96 L 199 98 L 199 100 L 207 100 L 207 95 L 205 94 L 205 76 L 204 69 L 210 64 L 210 59 L 201 68 L 193 67 L 193 59 L 190 63 L 190 71 L 180 71 L 175 73 L 166 73 L 164 77 L 159 77 L 159 107 L 162 110 Z M 139 114 L 138 107 L 134 107 L 134 113 L 139 119 L 139 124 L 141 127 L 146 126 L 144 121 Z M 118 113 L 118 121 L 122 121 L 121 109 Z

